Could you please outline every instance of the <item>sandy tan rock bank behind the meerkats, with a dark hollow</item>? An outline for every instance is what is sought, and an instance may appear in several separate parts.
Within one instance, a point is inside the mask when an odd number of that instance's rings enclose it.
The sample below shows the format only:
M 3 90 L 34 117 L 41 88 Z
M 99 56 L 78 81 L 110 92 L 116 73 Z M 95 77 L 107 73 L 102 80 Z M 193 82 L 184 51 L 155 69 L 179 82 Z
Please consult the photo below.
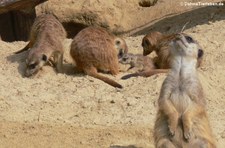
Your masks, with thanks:
M 186 0 L 189 1 L 193 0 Z M 36 11 L 37 15 L 56 15 L 69 37 L 73 37 L 90 25 L 102 26 L 115 34 L 127 33 L 168 14 L 192 8 L 197 7 L 183 6 L 174 0 L 50 0 L 37 6 Z

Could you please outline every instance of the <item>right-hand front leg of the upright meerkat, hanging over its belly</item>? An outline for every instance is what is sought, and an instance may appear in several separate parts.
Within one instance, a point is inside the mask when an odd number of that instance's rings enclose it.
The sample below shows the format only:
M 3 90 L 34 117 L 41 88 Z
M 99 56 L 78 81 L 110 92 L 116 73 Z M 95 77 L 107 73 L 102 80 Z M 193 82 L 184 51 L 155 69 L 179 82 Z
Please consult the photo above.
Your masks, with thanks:
M 187 110 L 183 113 L 182 122 L 185 140 L 189 141 L 191 139 L 191 136 L 193 136 L 192 135 L 193 118 L 201 113 L 204 113 L 204 107 L 197 104 L 190 105 L 187 108 Z

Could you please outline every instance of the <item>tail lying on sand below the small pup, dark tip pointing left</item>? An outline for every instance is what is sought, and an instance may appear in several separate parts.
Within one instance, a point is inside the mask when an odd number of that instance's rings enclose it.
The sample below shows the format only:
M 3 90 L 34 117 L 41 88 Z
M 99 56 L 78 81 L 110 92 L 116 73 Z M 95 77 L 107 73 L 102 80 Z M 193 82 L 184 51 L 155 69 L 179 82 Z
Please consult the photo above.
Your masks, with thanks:
M 153 70 L 128 74 L 128 75 L 123 76 L 121 79 L 126 80 L 126 79 L 129 79 L 131 77 L 138 77 L 138 76 L 150 77 L 150 76 L 158 74 L 158 73 L 167 73 L 168 71 L 169 71 L 169 69 L 153 69 Z

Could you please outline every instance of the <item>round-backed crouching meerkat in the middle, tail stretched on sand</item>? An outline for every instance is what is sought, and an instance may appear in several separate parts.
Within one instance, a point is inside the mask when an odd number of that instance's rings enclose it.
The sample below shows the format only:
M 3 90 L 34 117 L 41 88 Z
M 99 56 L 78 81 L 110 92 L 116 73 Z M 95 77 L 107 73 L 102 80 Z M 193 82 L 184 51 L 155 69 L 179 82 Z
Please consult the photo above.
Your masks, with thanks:
M 128 52 L 124 39 L 114 36 L 100 27 L 87 27 L 73 39 L 70 55 L 76 63 L 77 71 L 100 79 L 117 88 L 122 85 L 102 76 L 98 71 L 119 73 L 119 59 Z

